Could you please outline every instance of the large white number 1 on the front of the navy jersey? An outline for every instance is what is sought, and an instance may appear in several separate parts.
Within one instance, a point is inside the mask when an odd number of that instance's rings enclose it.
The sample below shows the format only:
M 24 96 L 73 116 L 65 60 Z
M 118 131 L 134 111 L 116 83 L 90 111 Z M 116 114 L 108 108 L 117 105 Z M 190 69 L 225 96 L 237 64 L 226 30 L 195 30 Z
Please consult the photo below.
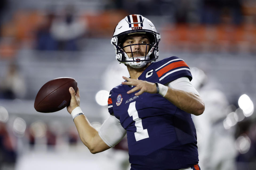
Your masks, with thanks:
M 135 127 L 137 128 L 136 132 L 134 133 L 136 141 L 149 138 L 149 133 L 147 132 L 147 129 L 143 129 L 142 126 L 142 120 L 139 118 L 138 112 L 135 108 L 135 102 L 130 103 L 128 108 L 128 114 L 129 116 L 133 117 L 133 120 L 135 121 Z

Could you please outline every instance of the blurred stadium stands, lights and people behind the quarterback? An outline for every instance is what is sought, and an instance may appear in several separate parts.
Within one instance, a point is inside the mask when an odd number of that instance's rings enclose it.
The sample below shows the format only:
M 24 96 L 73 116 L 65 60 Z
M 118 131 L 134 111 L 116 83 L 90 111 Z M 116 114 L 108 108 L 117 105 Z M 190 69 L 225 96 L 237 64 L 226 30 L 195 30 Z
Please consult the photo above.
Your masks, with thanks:
M 158 60 L 178 56 L 190 66 L 206 107 L 192 116 L 201 169 L 255 170 L 255 0 L 1 0 L 0 170 L 130 168 L 126 138 L 93 155 L 66 109 L 34 109 L 43 84 L 72 77 L 99 128 L 109 91 L 129 76 L 110 40 L 130 14 L 161 34 Z

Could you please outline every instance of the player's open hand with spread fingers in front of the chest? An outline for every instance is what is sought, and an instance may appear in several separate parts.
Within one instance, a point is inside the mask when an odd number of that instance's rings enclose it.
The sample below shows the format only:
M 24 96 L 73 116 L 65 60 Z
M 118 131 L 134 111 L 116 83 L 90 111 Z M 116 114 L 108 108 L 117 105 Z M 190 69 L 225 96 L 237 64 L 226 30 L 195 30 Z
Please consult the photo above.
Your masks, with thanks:
M 133 89 L 127 91 L 127 94 L 131 94 L 138 90 L 140 91 L 135 93 L 135 96 L 141 95 L 144 92 L 151 93 L 151 94 L 157 93 L 157 86 L 155 85 L 155 83 L 147 82 L 144 80 L 131 79 L 124 76 L 123 76 L 123 79 L 127 80 L 127 82 L 122 82 L 122 84 L 136 86 Z

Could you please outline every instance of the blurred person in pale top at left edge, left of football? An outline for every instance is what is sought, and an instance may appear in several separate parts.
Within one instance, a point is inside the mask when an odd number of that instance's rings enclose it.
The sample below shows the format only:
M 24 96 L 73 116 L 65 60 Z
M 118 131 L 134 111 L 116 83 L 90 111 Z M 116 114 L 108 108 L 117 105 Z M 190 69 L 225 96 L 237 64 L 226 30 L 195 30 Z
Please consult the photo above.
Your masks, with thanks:
M 0 81 L 0 98 L 23 98 L 25 94 L 25 80 L 19 73 L 18 66 L 15 63 L 11 63 L 7 70 L 7 74 Z

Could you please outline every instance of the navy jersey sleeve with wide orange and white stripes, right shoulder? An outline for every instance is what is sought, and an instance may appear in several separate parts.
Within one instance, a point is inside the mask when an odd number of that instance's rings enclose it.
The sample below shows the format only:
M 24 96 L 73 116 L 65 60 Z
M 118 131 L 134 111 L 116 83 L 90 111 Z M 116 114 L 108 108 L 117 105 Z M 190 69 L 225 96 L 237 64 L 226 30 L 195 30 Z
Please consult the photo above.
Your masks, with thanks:
M 166 84 L 181 77 L 192 80 L 189 66 L 186 62 L 176 56 L 165 58 L 157 63 L 155 71 L 161 84 Z

